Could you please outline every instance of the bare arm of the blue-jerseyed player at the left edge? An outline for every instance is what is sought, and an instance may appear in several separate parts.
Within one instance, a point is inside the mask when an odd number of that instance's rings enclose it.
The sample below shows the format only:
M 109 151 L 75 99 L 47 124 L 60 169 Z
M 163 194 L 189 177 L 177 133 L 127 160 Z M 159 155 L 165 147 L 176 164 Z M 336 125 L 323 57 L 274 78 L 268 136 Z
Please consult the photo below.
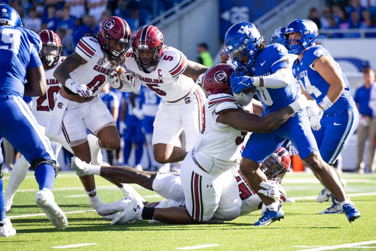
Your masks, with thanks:
M 46 92 L 43 65 L 27 70 L 24 96 L 39 97 Z

